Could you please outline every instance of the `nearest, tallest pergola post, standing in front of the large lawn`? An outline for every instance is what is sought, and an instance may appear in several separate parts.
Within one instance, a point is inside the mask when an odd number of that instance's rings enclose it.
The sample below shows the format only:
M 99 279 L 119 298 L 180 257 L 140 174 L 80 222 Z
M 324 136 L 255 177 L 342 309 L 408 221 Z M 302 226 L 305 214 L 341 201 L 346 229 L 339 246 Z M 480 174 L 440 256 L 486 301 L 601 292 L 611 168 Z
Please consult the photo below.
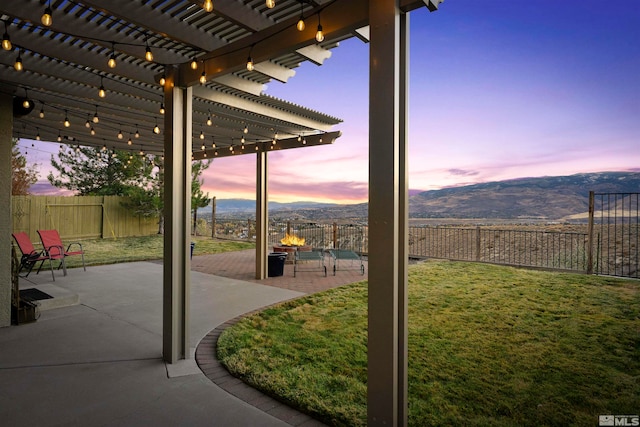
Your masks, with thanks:
M 367 425 L 407 424 L 407 16 L 371 0 Z

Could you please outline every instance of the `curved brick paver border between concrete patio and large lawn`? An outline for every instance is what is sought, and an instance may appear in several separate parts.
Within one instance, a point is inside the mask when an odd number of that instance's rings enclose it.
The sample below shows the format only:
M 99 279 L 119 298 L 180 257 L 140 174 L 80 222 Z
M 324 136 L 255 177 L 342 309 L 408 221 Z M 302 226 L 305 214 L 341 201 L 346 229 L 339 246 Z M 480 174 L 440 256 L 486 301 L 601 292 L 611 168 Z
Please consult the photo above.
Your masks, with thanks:
M 228 327 L 235 325 L 244 317 L 264 310 L 264 308 L 266 307 L 228 320 L 205 335 L 196 347 L 196 363 L 198 367 L 209 380 L 227 393 L 289 425 L 303 427 L 326 426 L 326 424 L 323 424 L 315 418 L 256 390 L 241 379 L 234 377 L 218 360 L 216 349 L 218 338 L 222 332 Z

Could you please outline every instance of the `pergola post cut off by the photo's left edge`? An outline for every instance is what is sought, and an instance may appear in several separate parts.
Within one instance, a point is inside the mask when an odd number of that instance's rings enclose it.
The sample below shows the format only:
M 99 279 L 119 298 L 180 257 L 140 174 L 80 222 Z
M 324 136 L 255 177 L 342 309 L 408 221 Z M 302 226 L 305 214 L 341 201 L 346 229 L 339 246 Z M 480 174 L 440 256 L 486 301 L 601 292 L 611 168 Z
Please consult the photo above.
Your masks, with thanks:
M 11 325 L 11 134 L 13 96 L 0 93 L 0 327 Z

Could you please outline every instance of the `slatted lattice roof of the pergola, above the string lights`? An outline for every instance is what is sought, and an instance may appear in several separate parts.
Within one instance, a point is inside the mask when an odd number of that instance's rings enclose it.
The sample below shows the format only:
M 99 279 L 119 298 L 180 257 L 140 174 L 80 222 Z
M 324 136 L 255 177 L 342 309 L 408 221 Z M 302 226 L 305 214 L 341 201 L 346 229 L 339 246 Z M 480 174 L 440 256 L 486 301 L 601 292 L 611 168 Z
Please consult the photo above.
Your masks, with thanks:
M 311 14 L 331 3 L 305 0 L 302 9 Z M 137 128 L 146 137 L 134 141 L 136 148 L 143 146 L 156 154 L 163 146 L 162 133 L 151 132 L 156 124 L 163 125 L 159 76 L 186 66 L 193 58 L 198 61 L 197 73 L 205 65 L 208 73 L 216 66 L 215 55 L 207 56 L 211 52 L 262 37 L 261 32 L 267 34 L 281 22 L 297 21 L 301 12 L 298 0 L 278 0 L 274 9 L 266 8 L 263 0 L 217 0 L 211 13 L 202 9 L 201 2 L 187 0 L 58 0 L 51 3 L 53 24 L 45 27 L 40 23 L 43 4 L 40 0 L 0 3 L 0 17 L 14 44 L 12 51 L 0 51 L 0 90 L 15 96 L 28 94 L 36 104 L 31 113 L 16 117 L 14 136 L 33 139 L 38 134 L 49 141 L 60 136 L 64 143 L 131 149 L 128 134 Z M 195 86 L 194 152 L 202 145 L 200 132 L 205 141 L 217 140 L 224 146 L 243 136 L 247 142 L 270 141 L 276 131 L 282 138 L 293 138 L 333 130 L 340 119 L 264 93 L 274 78 L 295 78 L 292 70 L 301 62 L 320 65 L 339 46 L 332 40 L 310 43 L 316 46 L 306 55 L 292 47 L 267 57 L 262 49 L 256 71 L 244 67 L 216 71 L 204 85 Z M 145 59 L 147 46 L 152 62 Z M 18 55 L 23 71 L 14 69 Z M 241 55 L 249 56 L 250 47 L 243 48 Z M 111 56 L 115 68 L 107 64 Z M 105 89 L 104 98 L 98 95 L 100 87 Z M 41 109 L 45 118 L 39 117 Z M 90 127 L 85 127 L 94 115 L 99 115 L 99 122 L 90 121 Z M 69 128 L 63 125 L 65 116 L 71 121 Z M 203 124 L 209 116 L 211 126 Z M 250 129 L 247 134 L 245 127 Z M 123 139 L 117 138 L 118 130 L 125 134 Z

